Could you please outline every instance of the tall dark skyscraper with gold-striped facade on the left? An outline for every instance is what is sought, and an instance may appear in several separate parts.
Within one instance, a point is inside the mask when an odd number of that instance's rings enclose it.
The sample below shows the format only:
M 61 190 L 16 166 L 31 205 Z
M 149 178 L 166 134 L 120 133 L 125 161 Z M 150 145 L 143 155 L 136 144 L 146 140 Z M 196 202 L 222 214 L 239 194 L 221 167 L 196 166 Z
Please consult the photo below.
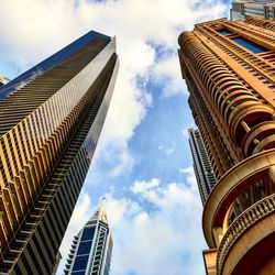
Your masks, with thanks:
M 1 87 L 1 274 L 56 268 L 117 72 L 116 40 L 91 31 Z

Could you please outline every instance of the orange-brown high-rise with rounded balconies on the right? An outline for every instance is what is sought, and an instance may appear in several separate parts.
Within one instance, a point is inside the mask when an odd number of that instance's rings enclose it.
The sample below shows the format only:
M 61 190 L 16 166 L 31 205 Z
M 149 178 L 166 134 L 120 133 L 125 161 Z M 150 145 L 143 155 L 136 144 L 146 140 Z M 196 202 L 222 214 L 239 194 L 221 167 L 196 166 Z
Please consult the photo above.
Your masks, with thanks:
M 220 19 L 178 38 L 189 105 L 217 179 L 202 216 L 208 274 L 275 271 L 273 26 Z

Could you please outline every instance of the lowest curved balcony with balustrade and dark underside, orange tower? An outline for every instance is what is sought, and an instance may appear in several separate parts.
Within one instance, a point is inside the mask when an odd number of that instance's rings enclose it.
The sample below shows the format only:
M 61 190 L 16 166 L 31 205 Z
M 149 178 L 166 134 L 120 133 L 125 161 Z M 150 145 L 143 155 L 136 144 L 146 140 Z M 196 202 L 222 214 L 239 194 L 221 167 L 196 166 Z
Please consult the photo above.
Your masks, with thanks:
M 271 235 L 275 238 L 275 195 L 271 195 L 240 215 L 229 227 L 219 245 L 217 255 L 218 274 L 255 274 L 256 266 L 251 262 L 250 253 L 257 246 L 257 261 L 268 257 L 273 248 Z M 257 224 L 257 229 L 253 228 Z M 260 230 L 261 229 L 261 230 Z M 262 230 L 264 229 L 264 230 Z M 263 243 L 266 242 L 265 245 Z M 258 243 L 262 243 L 260 249 Z M 270 246 L 266 248 L 266 246 Z M 267 255 L 266 255 L 267 254 Z M 249 264 L 248 264 L 249 263 Z M 255 264 L 256 264 L 255 263 Z M 244 267 L 245 266 L 245 267 Z M 274 267 L 274 266 L 273 266 Z M 243 270 L 245 268 L 245 270 Z

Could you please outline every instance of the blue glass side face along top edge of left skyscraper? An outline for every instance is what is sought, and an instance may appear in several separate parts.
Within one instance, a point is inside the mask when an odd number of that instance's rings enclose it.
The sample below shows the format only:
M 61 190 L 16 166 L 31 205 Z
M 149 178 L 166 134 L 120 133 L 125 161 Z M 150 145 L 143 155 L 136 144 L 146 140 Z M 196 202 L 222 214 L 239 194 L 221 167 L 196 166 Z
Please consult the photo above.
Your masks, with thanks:
M 90 32 L 86 33 L 80 38 L 78 38 L 77 41 L 70 43 L 68 46 L 62 48 L 61 51 L 53 54 L 52 56 L 50 56 L 45 61 L 41 62 L 36 66 L 34 66 L 31 69 L 26 70 L 25 73 L 23 73 L 19 77 L 14 78 L 13 80 L 8 82 L 7 85 L 1 86 L 0 87 L 0 99 L 3 99 L 7 96 L 9 96 L 22 82 L 29 82 L 35 76 L 41 75 L 41 74 L 45 73 L 46 70 L 53 68 L 57 64 L 59 64 L 63 61 L 67 59 L 69 56 L 72 56 L 78 50 L 80 50 L 81 47 L 84 47 L 85 45 L 87 45 L 88 43 L 90 43 L 91 41 L 97 40 L 97 38 L 105 38 L 105 40 L 108 40 L 108 41 L 111 40 L 111 37 L 105 35 L 105 34 L 98 33 L 98 32 L 90 31 Z

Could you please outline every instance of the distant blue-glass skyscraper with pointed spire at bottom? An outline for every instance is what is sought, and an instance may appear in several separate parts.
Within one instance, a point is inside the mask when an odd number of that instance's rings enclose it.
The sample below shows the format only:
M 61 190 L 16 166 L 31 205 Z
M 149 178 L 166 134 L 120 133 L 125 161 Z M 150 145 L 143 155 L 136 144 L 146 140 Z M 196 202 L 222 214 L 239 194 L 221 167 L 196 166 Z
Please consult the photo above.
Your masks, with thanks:
M 75 237 L 65 274 L 108 275 L 113 240 L 105 211 L 105 198 L 99 209 Z

